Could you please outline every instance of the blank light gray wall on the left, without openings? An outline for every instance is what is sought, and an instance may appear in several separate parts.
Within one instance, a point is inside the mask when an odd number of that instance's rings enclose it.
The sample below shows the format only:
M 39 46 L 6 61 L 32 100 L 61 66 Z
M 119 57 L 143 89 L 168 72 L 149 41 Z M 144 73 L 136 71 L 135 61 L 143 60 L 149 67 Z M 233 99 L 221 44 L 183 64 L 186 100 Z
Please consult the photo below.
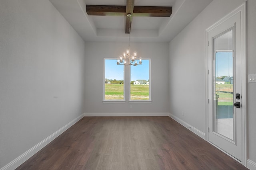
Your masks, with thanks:
M 0 168 L 84 113 L 84 41 L 48 0 L 0 1 Z

